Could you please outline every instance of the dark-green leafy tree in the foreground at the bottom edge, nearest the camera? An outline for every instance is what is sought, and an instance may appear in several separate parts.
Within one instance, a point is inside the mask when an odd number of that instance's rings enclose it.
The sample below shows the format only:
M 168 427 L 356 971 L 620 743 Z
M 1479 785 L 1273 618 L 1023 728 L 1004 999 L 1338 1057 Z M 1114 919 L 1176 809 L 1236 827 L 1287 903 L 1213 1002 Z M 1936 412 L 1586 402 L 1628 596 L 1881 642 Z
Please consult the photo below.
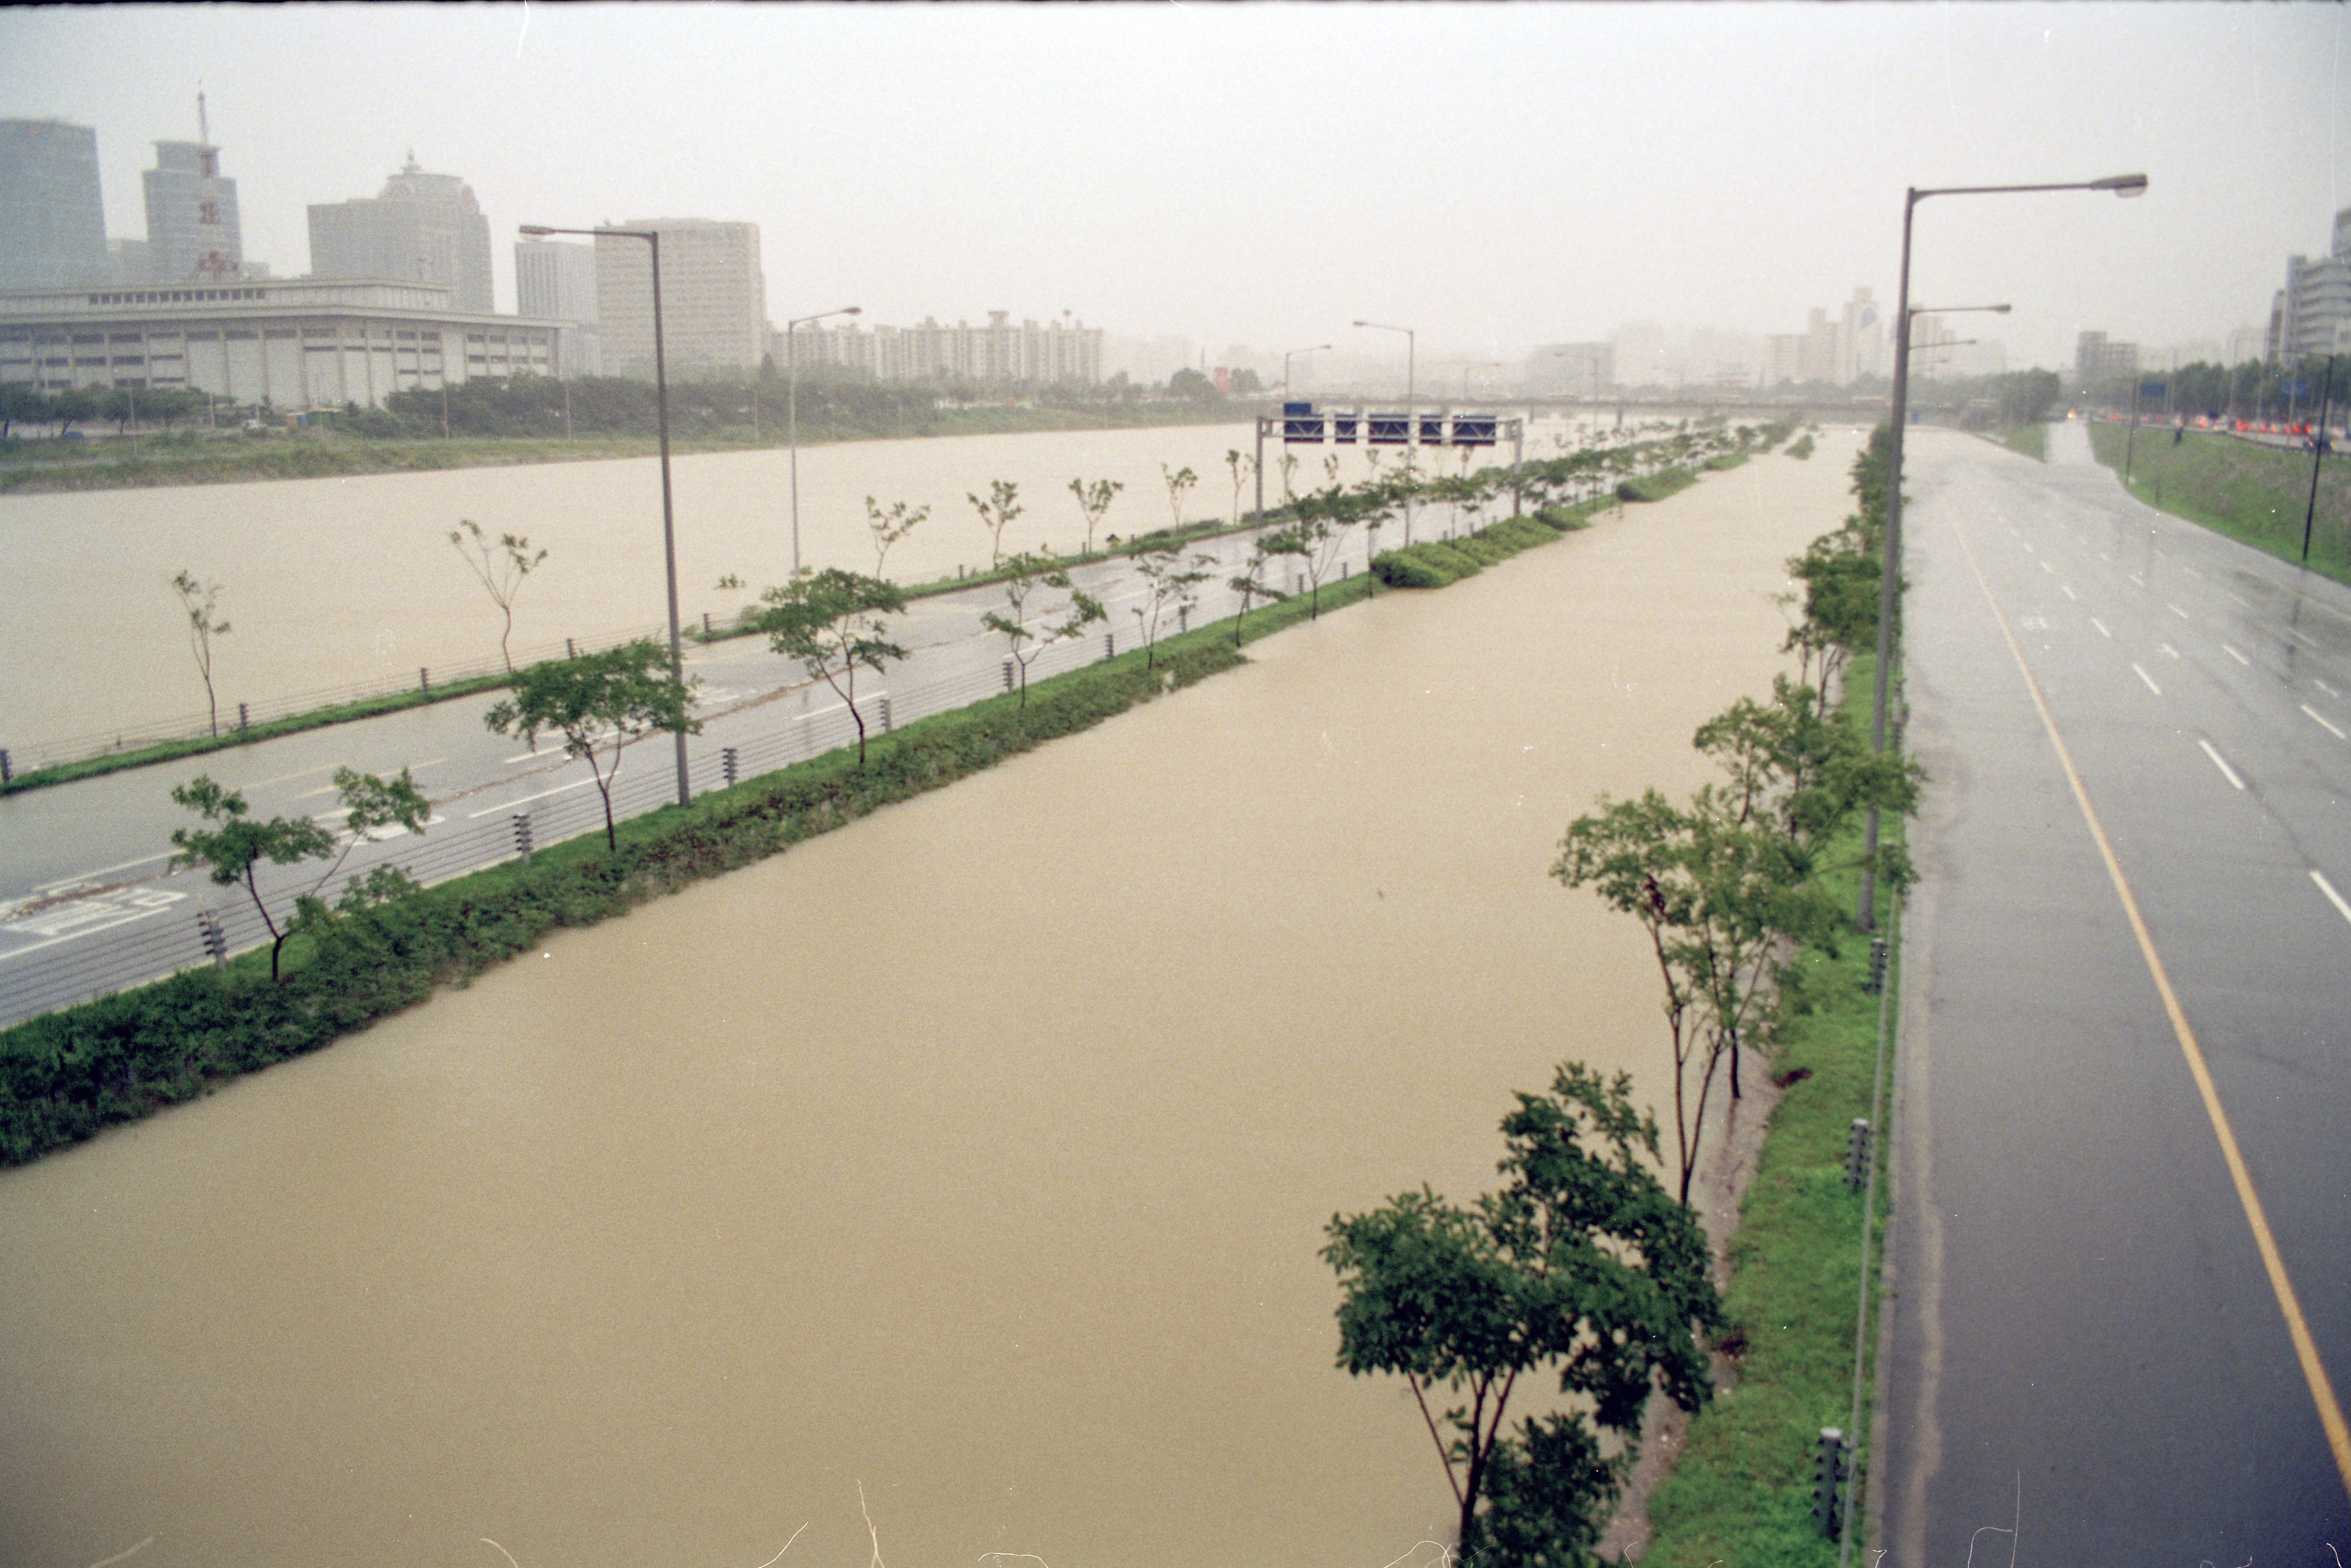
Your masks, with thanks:
M 1331 1218 L 1338 1363 L 1411 1385 L 1460 1509 L 1460 1561 L 1566 1568 L 1592 1561 L 1650 1387 L 1683 1410 L 1712 1399 L 1697 1335 L 1723 1307 L 1697 1218 L 1648 1166 L 1657 1121 L 1634 1112 L 1629 1074 L 1603 1084 L 1563 1063 L 1502 1135 L 1507 1185 L 1469 1208 L 1422 1187 Z M 1575 1408 L 1509 1429 L 1519 1378 L 1552 1368 Z M 1439 1385 L 1465 1403 L 1439 1415 Z M 1617 1458 L 1594 1427 L 1620 1439 Z

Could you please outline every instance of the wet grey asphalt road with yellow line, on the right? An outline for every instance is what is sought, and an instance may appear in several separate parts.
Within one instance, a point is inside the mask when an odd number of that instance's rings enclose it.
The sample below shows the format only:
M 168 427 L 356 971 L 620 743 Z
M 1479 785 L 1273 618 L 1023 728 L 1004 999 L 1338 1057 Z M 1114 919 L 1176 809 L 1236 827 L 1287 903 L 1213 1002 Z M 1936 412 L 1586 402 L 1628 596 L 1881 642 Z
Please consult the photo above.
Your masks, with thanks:
M 2351 1443 L 2320 1415 L 2351 1387 L 2351 590 L 2135 503 L 2078 425 L 2050 454 L 1933 433 L 1909 454 L 1909 743 L 1933 785 L 1886 1561 L 2332 1563 L 2351 1554 Z

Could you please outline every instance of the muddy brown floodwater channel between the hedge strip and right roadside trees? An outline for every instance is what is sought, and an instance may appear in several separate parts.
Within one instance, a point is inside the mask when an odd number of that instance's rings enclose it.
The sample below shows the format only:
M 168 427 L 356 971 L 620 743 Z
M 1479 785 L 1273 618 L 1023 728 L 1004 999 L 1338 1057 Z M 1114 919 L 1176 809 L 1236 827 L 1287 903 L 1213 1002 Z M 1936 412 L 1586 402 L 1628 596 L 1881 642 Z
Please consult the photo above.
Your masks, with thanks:
M 1596 792 L 1700 780 L 1850 451 L 1335 614 L 0 1175 L 0 1561 L 1448 1540 L 1406 1389 L 1333 1368 L 1321 1227 L 1491 1185 L 1561 1058 L 1667 1100 L 1639 931 L 1545 872 Z

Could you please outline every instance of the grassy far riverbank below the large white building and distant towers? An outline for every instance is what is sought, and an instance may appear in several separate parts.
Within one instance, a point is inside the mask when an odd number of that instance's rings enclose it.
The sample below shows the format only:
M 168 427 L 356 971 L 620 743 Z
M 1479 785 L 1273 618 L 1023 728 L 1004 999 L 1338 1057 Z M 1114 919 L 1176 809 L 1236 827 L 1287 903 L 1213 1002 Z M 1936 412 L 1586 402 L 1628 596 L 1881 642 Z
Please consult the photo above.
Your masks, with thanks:
M 907 428 L 828 425 L 802 421 L 799 444 L 929 435 L 1020 435 L 1032 430 L 1138 430 L 1159 425 L 1230 425 L 1255 404 L 1093 404 L 1093 407 L 971 407 L 933 409 Z M 712 435 L 675 435 L 670 451 L 764 451 L 785 444 L 781 430 L 750 425 Z M 54 451 L 52 451 L 54 449 Z M 158 484 L 240 484 L 247 480 L 331 480 L 374 473 L 442 468 L 505 468 L 515 463 L 581 463 L 644 458 L 661 451 L 649 435 L 371 440 L 348 430 L 167 433 L 125 442 L 26 442 L 24 456 L 0 463 L 0 494 L 80 489 L 139 489 Z M 38 454 L 38 456 L 33 456 Z

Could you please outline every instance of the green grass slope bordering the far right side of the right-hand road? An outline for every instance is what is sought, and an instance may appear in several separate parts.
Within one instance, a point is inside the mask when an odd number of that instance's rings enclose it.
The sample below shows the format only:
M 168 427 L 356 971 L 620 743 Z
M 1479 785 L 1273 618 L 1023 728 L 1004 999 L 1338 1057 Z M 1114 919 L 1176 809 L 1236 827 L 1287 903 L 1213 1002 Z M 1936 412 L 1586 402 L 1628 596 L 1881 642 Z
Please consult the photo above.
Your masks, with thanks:
M 2123 470 L 2125 425 L 2092 423 L 2090 451 Z M 2311 505 L 2311 454 L 2255 447 L 2229 435 L 2139 425 L 2130 447 L 2132 496 L 2186 517 L 2278 559 L 2302 559 L 2302 520 Z M 2351 583 L 2351 458 L 2327 456 L 2311 520 L 2311 571 Z

